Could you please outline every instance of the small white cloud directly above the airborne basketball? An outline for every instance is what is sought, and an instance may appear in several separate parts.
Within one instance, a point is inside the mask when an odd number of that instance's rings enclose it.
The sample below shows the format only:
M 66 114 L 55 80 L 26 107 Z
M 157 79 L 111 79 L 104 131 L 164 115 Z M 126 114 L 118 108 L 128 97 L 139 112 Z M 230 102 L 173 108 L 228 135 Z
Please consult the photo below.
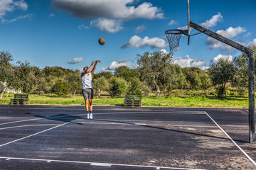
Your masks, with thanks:
M 105 30 L 107 33 L 117 33 L 119 30 L 122 30 L 121 24 L 122 21 L 107 18 L 98 18 L 90 23 L 91 26 L 95 26 L 99 30 Z

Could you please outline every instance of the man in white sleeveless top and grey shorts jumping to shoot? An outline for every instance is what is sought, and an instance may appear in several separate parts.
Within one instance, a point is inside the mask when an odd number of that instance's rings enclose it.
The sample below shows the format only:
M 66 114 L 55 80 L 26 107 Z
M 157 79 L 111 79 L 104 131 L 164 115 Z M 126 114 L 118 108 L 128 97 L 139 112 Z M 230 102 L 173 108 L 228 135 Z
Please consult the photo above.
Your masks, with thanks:
M 85 98 L 85 108 L 87 113 L 87 119 L 92 119 L 92 98 L 93 98 L 93 89 L 92 89 L 92 74 L 95 72 L 97 63 L 100 62 L 100 60 L 97 60 L 96 62 L 92 61 L 92 64 L 90 67 L 85 67 L 83 69 L 83 72 L 81 74 L 82 79 L 82 95 Z M 92 72 L 90 72 L 90 69 L 94 65 Z M 89 103 L 89 106 L 88 106 Z

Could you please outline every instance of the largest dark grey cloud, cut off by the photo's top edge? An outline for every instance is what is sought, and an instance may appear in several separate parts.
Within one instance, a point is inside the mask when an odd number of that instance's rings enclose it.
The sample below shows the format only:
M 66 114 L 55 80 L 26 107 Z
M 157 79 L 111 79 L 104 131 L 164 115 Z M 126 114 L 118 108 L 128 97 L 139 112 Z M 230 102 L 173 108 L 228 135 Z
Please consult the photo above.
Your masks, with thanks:
M 164 18 L 161 8 L 144 2 L 133 6 L 137 0 L 53 0 L 53 5 L 78 18 L 115 18 L 132 20 L 137 18 Z

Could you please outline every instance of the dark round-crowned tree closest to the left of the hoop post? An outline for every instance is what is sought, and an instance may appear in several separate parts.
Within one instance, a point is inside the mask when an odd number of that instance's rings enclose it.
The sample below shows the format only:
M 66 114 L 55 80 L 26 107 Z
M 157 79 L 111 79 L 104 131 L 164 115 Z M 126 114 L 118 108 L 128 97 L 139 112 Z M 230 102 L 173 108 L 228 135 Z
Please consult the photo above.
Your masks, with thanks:
M 210 79 L 218 91 L 218 96 L 225 95 L 226 84 L 233 79 L 236 66 L 228 58 L 220 59 L 218 63 L 213 63 L 209 69 Z

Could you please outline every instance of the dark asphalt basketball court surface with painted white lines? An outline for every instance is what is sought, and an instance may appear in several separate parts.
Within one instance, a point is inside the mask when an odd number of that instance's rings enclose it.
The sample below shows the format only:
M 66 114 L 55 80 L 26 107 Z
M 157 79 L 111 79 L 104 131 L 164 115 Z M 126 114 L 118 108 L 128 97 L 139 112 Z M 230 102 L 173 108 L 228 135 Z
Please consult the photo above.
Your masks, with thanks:
M 0 105 L 0 169 L 256 169 L 247 109 Z

